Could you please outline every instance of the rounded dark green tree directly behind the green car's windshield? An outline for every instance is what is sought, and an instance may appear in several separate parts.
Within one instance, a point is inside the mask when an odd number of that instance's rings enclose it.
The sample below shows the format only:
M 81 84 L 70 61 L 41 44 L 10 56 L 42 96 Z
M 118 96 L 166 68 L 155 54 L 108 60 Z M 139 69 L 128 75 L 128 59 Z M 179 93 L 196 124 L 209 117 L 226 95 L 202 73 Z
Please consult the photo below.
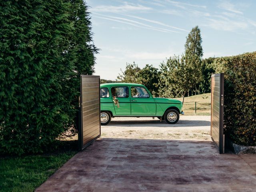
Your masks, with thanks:
M 139 71 L 138 76 L 138 82 L 145 85 L 153 96 L 158 96 L 158 69 L 152 65 L 146 64 L 146 66 Z

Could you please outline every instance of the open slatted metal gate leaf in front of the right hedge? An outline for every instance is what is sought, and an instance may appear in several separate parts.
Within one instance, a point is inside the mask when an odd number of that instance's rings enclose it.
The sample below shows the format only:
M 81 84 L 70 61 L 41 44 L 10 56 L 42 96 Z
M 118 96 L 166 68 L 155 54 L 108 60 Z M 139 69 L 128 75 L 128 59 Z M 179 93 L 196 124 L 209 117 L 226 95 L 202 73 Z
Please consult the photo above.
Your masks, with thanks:
M 211 137 L 219 153 L 224 153 L 224 74 L 212 74 Z

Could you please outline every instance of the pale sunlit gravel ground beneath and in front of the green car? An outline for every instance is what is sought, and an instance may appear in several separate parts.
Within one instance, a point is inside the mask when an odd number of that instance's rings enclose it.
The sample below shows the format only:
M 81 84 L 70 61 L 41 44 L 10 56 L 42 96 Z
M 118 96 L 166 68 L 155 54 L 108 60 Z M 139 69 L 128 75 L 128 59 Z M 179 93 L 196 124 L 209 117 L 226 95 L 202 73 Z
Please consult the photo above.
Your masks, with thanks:
M 116 117 L 101 126 L 101 138 L 150 138 L 210 141 L 211 116 L 180 116 L 176 124 L 151 117 Z

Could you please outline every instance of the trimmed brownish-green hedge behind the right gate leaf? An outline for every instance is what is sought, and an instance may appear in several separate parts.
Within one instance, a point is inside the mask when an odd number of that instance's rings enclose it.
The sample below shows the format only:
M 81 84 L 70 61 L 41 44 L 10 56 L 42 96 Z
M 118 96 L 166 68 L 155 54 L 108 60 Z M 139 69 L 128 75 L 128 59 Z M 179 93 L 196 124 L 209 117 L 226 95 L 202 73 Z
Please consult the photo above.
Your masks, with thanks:
M 256 146 L 256 52 L 215 60 L 224 73 L 224 133 L 236 144 Z

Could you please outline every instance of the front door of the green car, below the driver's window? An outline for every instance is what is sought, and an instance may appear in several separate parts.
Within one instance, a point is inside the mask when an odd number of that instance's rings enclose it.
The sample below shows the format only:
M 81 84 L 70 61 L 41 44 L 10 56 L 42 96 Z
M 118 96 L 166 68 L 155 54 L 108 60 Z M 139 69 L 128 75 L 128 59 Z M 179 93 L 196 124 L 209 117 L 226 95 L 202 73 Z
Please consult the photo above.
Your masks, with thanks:
M 131 86 L 131 114 L 156 115 L 156 102 L 144 87 Z

